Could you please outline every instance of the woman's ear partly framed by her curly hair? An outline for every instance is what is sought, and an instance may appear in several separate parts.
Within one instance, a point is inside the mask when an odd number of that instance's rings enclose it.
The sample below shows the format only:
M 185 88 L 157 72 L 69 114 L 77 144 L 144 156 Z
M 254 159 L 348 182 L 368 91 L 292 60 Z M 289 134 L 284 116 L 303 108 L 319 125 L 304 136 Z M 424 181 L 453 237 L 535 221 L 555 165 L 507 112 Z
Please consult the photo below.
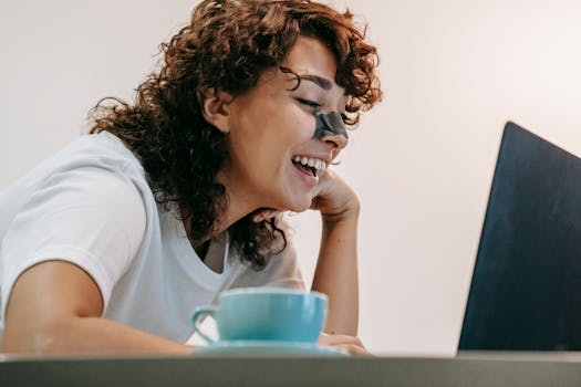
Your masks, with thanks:
M 229 104 L 234 97 L 226 92 L 203 87 L 197 92 L 201 115 L 224 134 L 230 133 Z

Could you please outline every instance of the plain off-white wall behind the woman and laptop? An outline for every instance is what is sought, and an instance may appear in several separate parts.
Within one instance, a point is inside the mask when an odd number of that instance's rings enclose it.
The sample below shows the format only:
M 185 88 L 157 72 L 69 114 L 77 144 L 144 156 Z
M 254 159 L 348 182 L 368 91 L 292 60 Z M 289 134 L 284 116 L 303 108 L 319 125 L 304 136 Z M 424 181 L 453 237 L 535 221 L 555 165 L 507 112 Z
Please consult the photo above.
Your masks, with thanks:
M 195 0 L 2 0 L 0 188 L 131 98 Z M 504 123 L 581 155 L 581 1 L 338 0 L 369 22 L 385 101 L 341 174 L 360 194 L 361 337 L 453 355 Z M 293 218 L 312 276 L 320 224 Z

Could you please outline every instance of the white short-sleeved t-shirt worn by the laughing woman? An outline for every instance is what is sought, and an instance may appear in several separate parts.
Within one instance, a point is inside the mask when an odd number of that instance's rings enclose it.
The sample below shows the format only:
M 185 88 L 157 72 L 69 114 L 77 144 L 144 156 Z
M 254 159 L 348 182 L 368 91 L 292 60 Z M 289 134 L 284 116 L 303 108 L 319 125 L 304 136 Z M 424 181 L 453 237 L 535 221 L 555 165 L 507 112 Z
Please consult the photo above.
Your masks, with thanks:
M 172 211 L 156 203 L 137 158 L 114 135 L 83 136 L 0 191 L 0 341 L 6 307 L 20 274 L 59 259 L 85 270 L 104 300 L 105 318 L 185 343 L 191 312 L 225 289 L 303 287 L 288 245 L 262 271 L 229 250 L 228 232 L 198 258 Z

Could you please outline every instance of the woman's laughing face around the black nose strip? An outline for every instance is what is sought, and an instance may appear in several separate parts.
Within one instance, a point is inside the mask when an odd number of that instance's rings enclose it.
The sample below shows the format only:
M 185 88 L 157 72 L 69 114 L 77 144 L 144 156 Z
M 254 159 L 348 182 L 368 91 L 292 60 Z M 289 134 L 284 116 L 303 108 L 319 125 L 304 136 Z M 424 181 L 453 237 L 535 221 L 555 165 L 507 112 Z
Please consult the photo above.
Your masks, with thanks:
M 301 76 L 298 88 L 292 73 L 273 69 L 228 103 L 230 164 L 218 179 L 230 202 L 249 211 L 308 209 L 319 176 L 346 145 L 341 135 L 313 138 L 317 112 L 345 109 L 331 51 L 317 39 L 300 36 L 282 66 Z M 314 168 L 298 160 L 314 163 Z

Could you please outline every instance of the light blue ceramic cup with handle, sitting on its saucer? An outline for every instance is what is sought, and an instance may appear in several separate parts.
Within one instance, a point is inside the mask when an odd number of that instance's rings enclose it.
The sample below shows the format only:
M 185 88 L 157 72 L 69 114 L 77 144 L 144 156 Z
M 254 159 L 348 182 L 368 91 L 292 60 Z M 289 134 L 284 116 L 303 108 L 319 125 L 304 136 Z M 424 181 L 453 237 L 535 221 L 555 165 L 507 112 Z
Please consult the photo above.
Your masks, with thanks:
M 277 341 L 315 344 L 326 318 L 326 295 L 279 287 L 245 287 L 220 293 L 218 305 L 194 311 L 194 330 L 203 316 L 216 321 L 221 342 Z

